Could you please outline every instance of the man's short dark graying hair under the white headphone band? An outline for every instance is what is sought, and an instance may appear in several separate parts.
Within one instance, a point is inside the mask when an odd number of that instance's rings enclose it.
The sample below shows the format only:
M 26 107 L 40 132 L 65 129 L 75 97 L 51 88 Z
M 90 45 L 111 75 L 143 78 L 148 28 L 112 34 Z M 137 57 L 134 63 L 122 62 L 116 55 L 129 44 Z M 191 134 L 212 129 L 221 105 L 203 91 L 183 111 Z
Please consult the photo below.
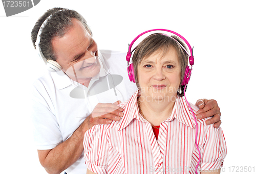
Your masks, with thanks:
M 53 8 L 48 10 L 44 15 L 42 15 L 31 32 L 31 39 L 35 48 L 35 41 L 37 34 L 42 23 L 49 17 L 45 24 L 45 27 L 42 28 L 40 34 L 39 46 L 41 48 L 42 54 L 44 54 L 46 59 L 56 60 L 56 57 L 53 52 L 52 39 L 54 37 L 62 37 L 72 26 L 72 19 L 78 19 L 84 25 L 88 33 L 92 36 L 92 32 L 87 26 L 86 20 L 76 11 L 64 9 L 64 8 Z

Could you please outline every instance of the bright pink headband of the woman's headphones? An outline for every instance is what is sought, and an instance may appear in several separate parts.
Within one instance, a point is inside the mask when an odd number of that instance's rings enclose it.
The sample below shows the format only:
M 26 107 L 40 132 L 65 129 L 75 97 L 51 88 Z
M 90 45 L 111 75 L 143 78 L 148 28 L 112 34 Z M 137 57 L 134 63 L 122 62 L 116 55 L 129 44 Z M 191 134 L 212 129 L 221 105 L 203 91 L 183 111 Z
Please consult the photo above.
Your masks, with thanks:
M 189 51 L 190 51 L 190 56 L 189 56 L 189 64 L 192 66 L 194 65 L 194 56 L 193 56 L 193 48 L 191 48 L 190 44 L 188 43 L 188 41 L 183 37 L 181 36 L 179 33 L 176 33 L 174 31 L 171 31 L 171 30 L 166 30 L 166 29 L 152 29 L 152 30 L 147 30 L 141 34 L 139 34 L 135 39 L 133 39 L 133 41 L 131 42 L 131 44 L 129 44 L 129 48 L 128 48 L 128 53 L 127 53 L 127 56 L 126 56 L 126 61 L 127 62 L 130 62 L 130 59 L 131 59 L 131 56 L 132 56 L 132 53 L 131 53 L 131 49 L 132 49 L 132 46 L 134 44 L 134 42 L 142 35 L 148 33 L 148 32 L 152 32 L 152 31 L 165 31 L 165 32 L 169 32 L 169 33 L 173 33 L 177 36 L 179 36 L 188 46 L 189 48 Z

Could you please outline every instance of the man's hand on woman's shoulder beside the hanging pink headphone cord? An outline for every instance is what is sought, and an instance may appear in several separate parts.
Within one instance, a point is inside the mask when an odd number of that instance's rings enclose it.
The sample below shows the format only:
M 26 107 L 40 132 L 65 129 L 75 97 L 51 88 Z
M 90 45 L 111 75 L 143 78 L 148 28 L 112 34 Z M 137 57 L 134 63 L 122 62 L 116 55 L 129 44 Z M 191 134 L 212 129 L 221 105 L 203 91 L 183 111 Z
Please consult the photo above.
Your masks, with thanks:
M 221 125 L 221 112 L 215 100 L 200 99 L 197 101 L 196 106 L 199 107 L 196 113 L 198 119 L 213 116 L 206 121 L 206 124 L 210 125 L 214 123 L 215 128 Z

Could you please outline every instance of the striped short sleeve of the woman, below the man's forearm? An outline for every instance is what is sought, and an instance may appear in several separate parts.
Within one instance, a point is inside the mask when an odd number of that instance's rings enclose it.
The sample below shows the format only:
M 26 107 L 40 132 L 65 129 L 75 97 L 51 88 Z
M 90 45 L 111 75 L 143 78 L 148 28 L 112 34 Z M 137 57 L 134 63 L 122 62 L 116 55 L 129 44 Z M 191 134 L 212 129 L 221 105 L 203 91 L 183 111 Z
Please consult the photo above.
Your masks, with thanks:
M 107 173 L 109 162 L 109 136 L 106 125 L 95 125 L 84 134 L 84 160 L 95 173 Z

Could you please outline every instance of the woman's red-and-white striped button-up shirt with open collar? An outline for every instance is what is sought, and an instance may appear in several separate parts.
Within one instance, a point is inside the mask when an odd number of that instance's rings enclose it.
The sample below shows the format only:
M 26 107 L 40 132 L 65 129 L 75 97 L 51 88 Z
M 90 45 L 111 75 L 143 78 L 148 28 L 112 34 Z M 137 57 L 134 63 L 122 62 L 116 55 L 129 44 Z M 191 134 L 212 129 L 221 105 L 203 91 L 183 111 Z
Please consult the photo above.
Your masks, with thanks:
M 95 173 L 196 173 L 199 153 L 196 123 L 183 97 L 177 97 L 170 115 L 160 125 L 158 140 L 151 123 L 140 114 L 138 91 L 120 104 L 124 116 L 110 125 L 96 125 L 84 134 L 84 158 Z M 198 108 L 190 105 L 195 113 Z M 198 122 L 202 170 L 218 169 L 226 156 L 222 129 Z M 200 172 L 200 170 L 197 170 Z

